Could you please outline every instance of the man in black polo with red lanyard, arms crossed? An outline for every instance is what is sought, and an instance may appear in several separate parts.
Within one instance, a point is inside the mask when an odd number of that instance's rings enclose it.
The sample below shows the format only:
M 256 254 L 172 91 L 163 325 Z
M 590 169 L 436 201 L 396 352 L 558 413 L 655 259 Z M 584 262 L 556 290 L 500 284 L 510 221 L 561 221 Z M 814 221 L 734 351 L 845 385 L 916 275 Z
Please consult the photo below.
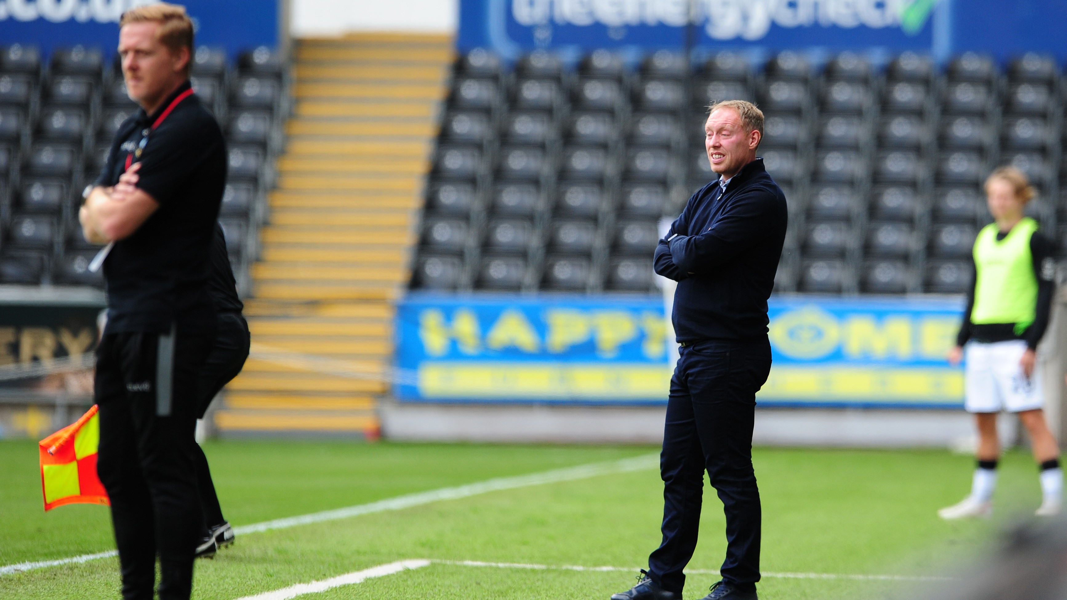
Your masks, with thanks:
M 192 49 L 193 25 L 181 6 L 123 14 L 123 77 L 142 110 L 120 127 L 79 212 L 85 238 L 110 249 L 108 324 L 96 363 L 97 470 L 111 499 L 127 600 L 153 598 L 157 554 L 159 598 L 188 599 L 204 525 L 193 429 L 198 375 L 217 327 L 208 250 L 226 149 L 192 94 Z

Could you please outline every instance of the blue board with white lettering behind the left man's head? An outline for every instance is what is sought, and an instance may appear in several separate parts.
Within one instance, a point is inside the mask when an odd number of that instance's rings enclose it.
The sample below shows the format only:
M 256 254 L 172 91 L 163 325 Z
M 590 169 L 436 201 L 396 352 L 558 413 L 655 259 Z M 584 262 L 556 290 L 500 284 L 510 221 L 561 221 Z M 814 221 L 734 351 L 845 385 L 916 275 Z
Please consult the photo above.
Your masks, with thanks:
M 76 44 L 110 56 L 118 45 L 118 17 L 141 0 L 6 0 L 0 2 L 0 45 L 37 46 L 44 52 Z M 176 0 L 196 25 L 196 44 L 230 55 L 256 46 L 277 46 L 277 0 Z

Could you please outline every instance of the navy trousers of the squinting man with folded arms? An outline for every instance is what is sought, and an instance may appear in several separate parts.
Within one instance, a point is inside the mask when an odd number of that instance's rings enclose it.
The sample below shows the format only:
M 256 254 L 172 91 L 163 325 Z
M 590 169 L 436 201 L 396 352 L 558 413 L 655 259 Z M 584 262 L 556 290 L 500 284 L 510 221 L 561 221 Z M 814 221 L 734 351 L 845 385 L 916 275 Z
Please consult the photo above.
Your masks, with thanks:
M 649 574 L 682 593 L 682 570 L 697 548 L 704 471 L 722 501 L 727 556 L 722 579 L 742 588 L 760 581 L 760 489 L 752 470 L 755 392 L 770 373 L 770 343 L 707 340 L 681 348 L 670 383 L 659 473 L 663 541 Z

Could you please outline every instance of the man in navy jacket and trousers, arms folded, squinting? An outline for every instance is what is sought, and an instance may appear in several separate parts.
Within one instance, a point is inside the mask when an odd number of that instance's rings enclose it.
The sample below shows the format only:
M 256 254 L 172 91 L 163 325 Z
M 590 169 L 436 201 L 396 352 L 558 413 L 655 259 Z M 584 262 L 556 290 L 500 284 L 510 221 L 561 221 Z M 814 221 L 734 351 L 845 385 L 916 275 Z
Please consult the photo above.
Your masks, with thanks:
M 757 598 L 761 512 L 752 423 L 755 392 L 770 372 L 767 297 L 785 240 L 785 196 L 755 158 L 763 137 L 755 106 L 713 104 L 704 132 L 719 178 L 689 198 L 655 253 L 656 273 L 679 282 L 673 323 L 681 346 L 659 459 L 663 541 L 638 584 L 612 600 L 682 598 L 705 469 L 727 518 L 722 581 L 705 600 Z

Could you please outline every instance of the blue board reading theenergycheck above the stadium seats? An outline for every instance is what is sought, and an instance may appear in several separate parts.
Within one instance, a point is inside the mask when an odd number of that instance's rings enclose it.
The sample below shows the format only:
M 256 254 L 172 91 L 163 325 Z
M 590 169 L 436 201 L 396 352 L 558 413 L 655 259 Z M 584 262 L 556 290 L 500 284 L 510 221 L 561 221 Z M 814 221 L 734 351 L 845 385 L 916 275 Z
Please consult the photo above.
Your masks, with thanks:
M 1063 0 L 461 0 L 460 50 L 974 50 L 1067 59 Z M 687 32 L 687 23 L 691 30 Z

